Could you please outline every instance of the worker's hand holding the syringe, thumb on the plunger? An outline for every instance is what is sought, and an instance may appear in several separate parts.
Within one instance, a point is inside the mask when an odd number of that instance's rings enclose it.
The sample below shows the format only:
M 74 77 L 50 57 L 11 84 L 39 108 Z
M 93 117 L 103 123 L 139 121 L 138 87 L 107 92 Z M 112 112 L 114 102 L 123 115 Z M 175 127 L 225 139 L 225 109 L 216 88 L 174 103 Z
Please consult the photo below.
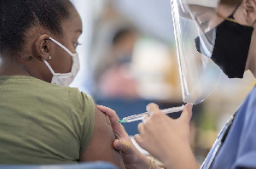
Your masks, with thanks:
M 166 168 L 187 168 L 182 165 L 189 161 L 196 168 L 197 163 L 189 141 L 192 104 L 186 104 L 178 119 L 162 113 L 156 104 L 148 104 L 147 111 L 148 115 L 138 125 L 140 133 L 134 137 L 137 144 L 162 161 Z

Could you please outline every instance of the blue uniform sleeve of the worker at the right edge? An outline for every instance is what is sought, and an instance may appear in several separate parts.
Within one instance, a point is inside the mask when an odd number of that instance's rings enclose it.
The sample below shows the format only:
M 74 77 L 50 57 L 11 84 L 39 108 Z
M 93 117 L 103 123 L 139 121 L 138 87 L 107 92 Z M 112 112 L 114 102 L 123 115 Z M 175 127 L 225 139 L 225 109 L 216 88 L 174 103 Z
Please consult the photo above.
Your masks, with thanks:
M 247 103 L 235 167 L 256 168 L 256 93 Z

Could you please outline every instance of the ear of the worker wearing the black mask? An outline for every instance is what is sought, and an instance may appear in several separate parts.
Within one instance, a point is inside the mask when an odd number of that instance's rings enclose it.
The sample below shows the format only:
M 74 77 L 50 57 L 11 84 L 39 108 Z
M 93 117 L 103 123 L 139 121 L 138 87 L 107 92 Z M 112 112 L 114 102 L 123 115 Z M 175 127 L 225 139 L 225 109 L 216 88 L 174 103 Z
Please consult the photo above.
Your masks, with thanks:
M 247 25 L 256 23 L 256 2 L 255 0 L 243 0 L 241 2 Z

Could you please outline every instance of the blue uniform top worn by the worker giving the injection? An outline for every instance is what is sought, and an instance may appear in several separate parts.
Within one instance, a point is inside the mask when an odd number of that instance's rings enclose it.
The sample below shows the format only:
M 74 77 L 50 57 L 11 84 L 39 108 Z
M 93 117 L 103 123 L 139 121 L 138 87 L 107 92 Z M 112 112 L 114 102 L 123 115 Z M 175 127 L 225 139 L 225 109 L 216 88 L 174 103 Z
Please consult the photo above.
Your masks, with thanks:
M 256 168 L 256 87 L 237 110 L 224 143 L 220 145 L 228 126 L 229 124 L 225 125 L 219 133 L 202 168 Z

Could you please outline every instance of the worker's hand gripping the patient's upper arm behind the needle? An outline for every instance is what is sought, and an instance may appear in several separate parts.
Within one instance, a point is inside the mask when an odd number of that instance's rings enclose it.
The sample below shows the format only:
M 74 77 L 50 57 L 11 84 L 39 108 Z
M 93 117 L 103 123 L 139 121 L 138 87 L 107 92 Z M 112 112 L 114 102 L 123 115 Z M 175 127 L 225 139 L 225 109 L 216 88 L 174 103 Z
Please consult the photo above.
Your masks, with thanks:
M 97 108 L 109 117 L 109 125 L 112 126 L 113 132 L 118 138 L 114 140 L 113 148 L 120 151 L 126 168 L 149 168 L 150 163 L 147 157 L 132 144 L 131 138 L 125 132 L 125 127 L 116 122 L 119 121 L 119 117 L 115 111 L 102 105 L 97 105 Z

